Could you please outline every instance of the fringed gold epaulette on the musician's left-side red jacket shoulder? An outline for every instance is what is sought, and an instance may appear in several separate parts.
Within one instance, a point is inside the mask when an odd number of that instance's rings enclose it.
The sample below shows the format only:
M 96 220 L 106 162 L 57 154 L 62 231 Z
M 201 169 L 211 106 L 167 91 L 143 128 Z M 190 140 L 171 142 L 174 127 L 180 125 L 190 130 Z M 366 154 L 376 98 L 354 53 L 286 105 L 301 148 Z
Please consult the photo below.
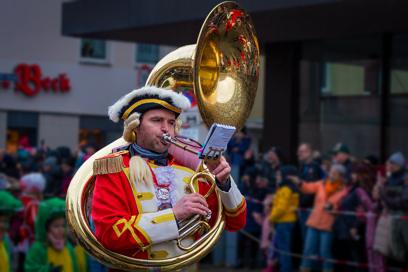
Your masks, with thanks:
M 119 173 L 126 166 L 123 164 L 122 155 L 129 153 L 128 150 L 119 151 L 93 161 L 93 175 Z

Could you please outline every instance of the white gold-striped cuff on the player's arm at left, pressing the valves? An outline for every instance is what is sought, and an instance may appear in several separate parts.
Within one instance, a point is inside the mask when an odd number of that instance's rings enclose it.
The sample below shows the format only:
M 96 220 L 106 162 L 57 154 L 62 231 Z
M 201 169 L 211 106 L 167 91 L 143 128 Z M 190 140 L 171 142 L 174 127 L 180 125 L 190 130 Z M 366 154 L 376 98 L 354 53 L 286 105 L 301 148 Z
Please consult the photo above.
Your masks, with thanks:
M 136 228 L 140 232 L 144 232 L 145 237 L 146 235 L 150 237 L 152 243 L 160 243 L 179 237 L 177 222 L 171 209 L 143 213 Z

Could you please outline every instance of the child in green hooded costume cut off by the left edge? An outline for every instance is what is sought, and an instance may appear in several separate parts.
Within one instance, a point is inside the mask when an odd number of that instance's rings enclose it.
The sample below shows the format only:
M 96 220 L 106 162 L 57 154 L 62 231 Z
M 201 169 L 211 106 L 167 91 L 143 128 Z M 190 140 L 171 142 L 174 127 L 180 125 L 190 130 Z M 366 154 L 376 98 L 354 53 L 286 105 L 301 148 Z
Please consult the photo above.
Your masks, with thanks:
M 5 234 L 11 215 L 22 208 L 20 200 L 7 191 L 0 191 L 0 271 L 11 271 L 10 244 Z

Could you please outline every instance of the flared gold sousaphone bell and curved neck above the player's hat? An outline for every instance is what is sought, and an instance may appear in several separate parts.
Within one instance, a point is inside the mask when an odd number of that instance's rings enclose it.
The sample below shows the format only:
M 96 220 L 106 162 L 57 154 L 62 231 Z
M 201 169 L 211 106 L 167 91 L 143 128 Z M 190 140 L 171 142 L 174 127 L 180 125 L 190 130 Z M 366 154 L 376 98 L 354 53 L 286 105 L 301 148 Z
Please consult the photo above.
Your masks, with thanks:
M 146 86 L 194 91 L 206 126 L 231 125 L 236 133 L 251 113 L 258 77 L 259 46 L 251 17 L 239 4 L 224 2 L 206 18 L 197 44 L 166 55 Z

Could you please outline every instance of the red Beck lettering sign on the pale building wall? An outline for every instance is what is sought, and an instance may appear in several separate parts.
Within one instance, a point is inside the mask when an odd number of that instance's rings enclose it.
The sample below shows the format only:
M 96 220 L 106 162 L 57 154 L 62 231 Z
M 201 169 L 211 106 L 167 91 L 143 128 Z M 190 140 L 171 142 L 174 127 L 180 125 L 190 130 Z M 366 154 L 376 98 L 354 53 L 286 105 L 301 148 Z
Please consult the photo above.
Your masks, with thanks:
M 69 78 L 66 74 L 60 74 L 59 77 L 50 78 L 42 77 L 41 68 L 38 64 L 31 66 L 27 64 L 19 64 L 14 73 L 18 75 L 18 81 L 16 82 L 16 91 L 22 91 L 26 95 L 35 95 L 41 89 L 45 90 L 61 90 L 69 91 L 71 86 L 69 85 Z

